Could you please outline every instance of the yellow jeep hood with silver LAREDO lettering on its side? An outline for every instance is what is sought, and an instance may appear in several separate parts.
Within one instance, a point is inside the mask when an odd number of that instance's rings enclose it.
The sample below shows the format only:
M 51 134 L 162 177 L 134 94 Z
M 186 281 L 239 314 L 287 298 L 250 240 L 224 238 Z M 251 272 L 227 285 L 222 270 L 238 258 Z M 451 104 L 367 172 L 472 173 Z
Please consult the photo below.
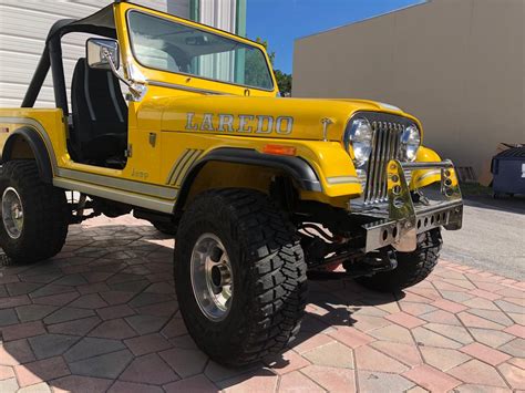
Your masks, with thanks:
M 236 136 L 341 141 L 349 118 L 359 111 L 414 117 L 401 110 L 363 100 L 317 100 L 241 96 L 157 97 L 142 116 L 162 112 L 162 131 L 234 134 Z M 150 108 L 150 110 L 148 110 Z M 150 117 L 151 118 L 151 117 Z

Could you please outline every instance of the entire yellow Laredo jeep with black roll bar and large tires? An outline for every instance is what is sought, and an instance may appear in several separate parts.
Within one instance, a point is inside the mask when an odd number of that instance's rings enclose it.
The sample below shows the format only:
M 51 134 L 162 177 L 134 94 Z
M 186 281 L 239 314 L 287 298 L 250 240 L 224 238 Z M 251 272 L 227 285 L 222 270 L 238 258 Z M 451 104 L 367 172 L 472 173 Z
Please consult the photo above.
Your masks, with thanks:
M 68 94 L 74 32 L 93 38 Z M 50 70 L 56 107 L 33 108 Z M 41 261 L 69 225 L 133 211 L 175 235 L 182 316 L 229 365 L 294 339 L 307 272 L 342 266 L 379 291 L 423 280 L 463 210 L 420 122 L 278 95 L 265 49 L 220 30 L 123 1 L 56 22 L 22 107 L 0 110 L 0 246 Z

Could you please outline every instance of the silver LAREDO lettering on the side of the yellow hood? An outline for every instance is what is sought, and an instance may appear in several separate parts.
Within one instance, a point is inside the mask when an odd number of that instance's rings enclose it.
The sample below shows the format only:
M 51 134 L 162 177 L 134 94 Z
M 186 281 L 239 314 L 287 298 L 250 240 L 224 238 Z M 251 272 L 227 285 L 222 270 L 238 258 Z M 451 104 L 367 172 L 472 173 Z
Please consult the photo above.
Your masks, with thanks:
M 280 134 L 290 135 L 294 131 L 294 117 L 268 115 L 228 115 L 205 113 L 200 122 L 196 122 L 195 113 L 186 114 L 186 130 L 218 131 L 239 134 Z M 237 126 L 235 126 L 235 123 Z

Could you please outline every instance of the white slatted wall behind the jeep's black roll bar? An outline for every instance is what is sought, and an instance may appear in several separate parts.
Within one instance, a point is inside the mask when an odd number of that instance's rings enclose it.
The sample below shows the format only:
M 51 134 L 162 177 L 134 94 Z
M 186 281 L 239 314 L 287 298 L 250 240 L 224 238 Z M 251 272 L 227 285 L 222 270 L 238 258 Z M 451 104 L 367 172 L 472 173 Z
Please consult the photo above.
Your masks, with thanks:
M 166 11 L 167 1 L 134 0 Z M 45 38 L 59 19 L 87 17 L 111 0 L 0 0 L 0 107 L 18 107 L 37 69 Z M 76 60 L 84 55 L 85 34 L 69 34 L 63 40 L 65 79 L 71 83 Z M 51 72 L 35 106 L 54 106 Z

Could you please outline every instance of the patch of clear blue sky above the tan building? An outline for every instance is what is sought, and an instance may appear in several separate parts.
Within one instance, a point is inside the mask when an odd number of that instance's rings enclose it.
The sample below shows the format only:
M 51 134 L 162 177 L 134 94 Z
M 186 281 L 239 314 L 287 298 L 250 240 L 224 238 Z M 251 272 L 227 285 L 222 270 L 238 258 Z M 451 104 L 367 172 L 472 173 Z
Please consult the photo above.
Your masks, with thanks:
M 267 40 L 277 70 L 291 73 L 294 41 L 423 0 L 247 0 L 247 34 Z

